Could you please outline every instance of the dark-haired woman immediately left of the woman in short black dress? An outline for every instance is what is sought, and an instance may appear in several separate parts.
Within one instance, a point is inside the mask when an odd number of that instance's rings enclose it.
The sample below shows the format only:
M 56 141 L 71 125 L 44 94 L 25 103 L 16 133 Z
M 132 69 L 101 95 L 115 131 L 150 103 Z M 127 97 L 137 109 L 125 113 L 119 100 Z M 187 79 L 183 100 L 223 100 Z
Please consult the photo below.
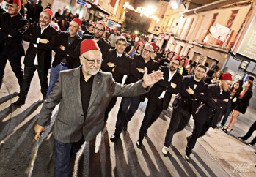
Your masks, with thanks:
M 230 116 L 230 113 L 235 106 L 235 102 L 233 102 L 232 100 L 236 97 L 239 97 L 239 94 L 241 93 L 241 91 L 243 89 L 242 86 L 243 86 L 243 80 L 238 80 L 231 87 L 231 89 L 230 89 L 231 106 L 230 106 L 230 108 L 226 108 L 224 110 L 224 113 L 223 113 L 224 117 L 222 119 L 222 123 L 218 124 L 218 127 L 222 127 L 222 126 L 224 126 L 224 124 L 226 124 L 227 118 L 228 118 L 228 116 Z M 227 127 L 225 127 L 225 128 L 227 128 Z

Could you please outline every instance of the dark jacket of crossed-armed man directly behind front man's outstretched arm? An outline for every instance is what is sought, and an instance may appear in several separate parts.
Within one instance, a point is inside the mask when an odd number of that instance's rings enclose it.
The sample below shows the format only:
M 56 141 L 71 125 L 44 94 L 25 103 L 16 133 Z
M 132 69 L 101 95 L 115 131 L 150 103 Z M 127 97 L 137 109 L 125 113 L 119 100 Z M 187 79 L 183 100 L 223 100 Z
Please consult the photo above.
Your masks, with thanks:
M 107 65 L 109 62 L 114 63 L 114 72 L 112 72 L 113 67 Z M 127 53 L 122 53 L 122 56 L 117 59 L 117 49 L 110 49 L 106 58 L 103 60 L 101 69 L 105 72 L 111 72 L 114 80 L 117 83 L 122 83 L 123 76 L 129 74 L 130 65 L 131 56 L 128 56 Z

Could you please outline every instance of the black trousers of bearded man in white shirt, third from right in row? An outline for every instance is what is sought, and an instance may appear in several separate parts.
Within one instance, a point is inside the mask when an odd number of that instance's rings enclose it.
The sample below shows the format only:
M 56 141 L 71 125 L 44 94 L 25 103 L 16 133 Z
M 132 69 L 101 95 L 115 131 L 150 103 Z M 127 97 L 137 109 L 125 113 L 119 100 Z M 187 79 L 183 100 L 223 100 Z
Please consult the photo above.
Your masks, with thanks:
M 139 140 L 143 140 L 145 133 L 147 133 L 147 129 L 160 116 L 162 110 L 162 99 L 158 99 L 156 102 L 150 102 L 150 100 L 148 101 L 145 116 L 139 129 Z

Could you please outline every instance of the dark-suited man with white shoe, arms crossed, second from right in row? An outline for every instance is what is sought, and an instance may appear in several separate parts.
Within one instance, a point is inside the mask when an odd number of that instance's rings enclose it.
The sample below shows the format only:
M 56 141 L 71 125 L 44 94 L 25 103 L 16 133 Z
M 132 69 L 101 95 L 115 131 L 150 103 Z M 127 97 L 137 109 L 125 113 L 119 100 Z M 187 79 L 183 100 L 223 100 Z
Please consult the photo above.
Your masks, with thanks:
M 164 155 L 168 153 L 173 135 L 183 130 L 186 124 L 189 123 L 191 115 L 196 113 L 200 103 L 206 102 L 206 91 L 208 91 L 208 87 L 202 80 L 205 77 L 205 72 L 206 67 L 200 64 L 195 69 L 194 75 L 183 76 L 180 93 L 172 103 L 172 118 L 169 122 L 164 147 L 162 148 Z

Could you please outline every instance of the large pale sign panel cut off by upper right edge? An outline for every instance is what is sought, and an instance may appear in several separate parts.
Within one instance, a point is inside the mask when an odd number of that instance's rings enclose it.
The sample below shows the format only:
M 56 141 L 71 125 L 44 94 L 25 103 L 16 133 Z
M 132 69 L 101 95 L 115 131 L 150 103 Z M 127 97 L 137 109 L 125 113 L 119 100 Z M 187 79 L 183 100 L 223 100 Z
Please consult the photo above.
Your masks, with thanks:
M 255 15 L 256 17 L 256 15 Z M 238 48 L 236 53 L 240 53 L 243 56 L 246 56 L 250 59 L 256 60 L 256 19 L 252 19 L 249 28 L 244 35 L 244 39 L 241 42 L 241 45 Z

